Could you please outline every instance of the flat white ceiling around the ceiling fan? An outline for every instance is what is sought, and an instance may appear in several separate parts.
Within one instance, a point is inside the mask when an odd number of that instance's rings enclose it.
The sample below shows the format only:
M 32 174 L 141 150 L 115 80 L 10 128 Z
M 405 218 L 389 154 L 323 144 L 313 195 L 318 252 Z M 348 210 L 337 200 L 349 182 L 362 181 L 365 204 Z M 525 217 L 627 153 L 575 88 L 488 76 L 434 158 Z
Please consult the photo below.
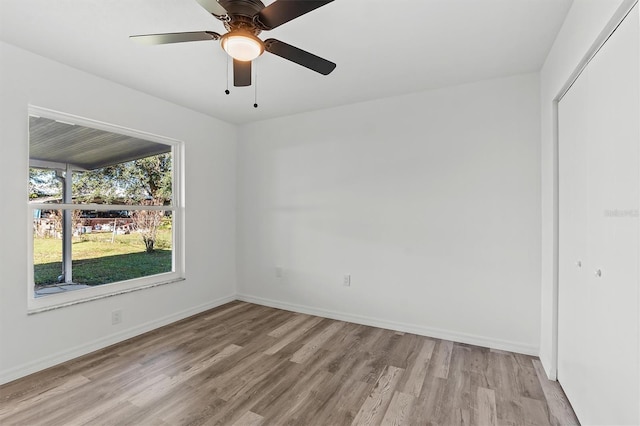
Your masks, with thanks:
M 265 1 L 265 4 L 273 0 Z M 572 0 L 335 0 L 264 32 L 338 64 L 322 76 L 265 53 L 230 87 L 217 41 L 160 46 L 132 34 L 222 23 L 195 0 L 0 0 L 0 39 L 232 123 L 538 71 Z

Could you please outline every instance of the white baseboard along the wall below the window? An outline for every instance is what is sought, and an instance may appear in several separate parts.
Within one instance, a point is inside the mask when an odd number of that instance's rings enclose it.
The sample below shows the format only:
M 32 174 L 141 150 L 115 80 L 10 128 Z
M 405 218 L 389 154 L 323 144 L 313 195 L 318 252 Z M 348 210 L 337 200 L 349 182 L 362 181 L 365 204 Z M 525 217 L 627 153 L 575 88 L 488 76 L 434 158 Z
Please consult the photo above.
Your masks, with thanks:
M 175 312 L 170 315 L 164 316 L 162 318 L 158 318 L 153 321 L 148 321 L 138 326 L 131 327 L 126 330 L 123 330 L 114 334 L 110 334 L 105 337 L 101 337 L 99 339 L 76 346 L 74 348 L 55 353 L 55 354 L 37 359 L 35 361 L 31 361 L 31 362 L 19 365 L 17 367 L 14 367 L 8 370 L 1 371 L 0 385 L 11 382 L 13 380 L 19 379 L 24 376 L 28 376 L 29 374 L 33 374 L 38 371 L 53 367 L 55 365 L 61 364 L 71 359 L 78 358 L 80 356 L 97 351 L 99 349 L 106 348 L 107 346 L 122 342 L 132 337 L 139 336 L 140 334 L 155 330 L 156 328 L 163 327 L 165 325 L 171 324 L 176 321 L 180 321 L 182 319 L 188 318 L 192 315 L 199 314 L 209 309 L 213 309 L 220 305 L 224 305 L 225 303 L 233 302 L 234 300 L 236 300 L 236 296 L 234 294 L 221 297 L 219 299 L 216 299 L 207 303 L 203 303 L 201 305 L 194 306 L 194 307 L 182 310 L 180 312 Z

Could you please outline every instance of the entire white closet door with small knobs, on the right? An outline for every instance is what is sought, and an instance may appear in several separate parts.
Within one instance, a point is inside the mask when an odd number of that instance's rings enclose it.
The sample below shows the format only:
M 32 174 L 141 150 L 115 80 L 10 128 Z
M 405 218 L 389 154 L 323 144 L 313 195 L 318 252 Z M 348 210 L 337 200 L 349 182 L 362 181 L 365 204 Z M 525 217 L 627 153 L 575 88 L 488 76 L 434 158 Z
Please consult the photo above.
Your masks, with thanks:
M 583 424 L 640 424 L 638 27 L 559 104 L 558 380 Z

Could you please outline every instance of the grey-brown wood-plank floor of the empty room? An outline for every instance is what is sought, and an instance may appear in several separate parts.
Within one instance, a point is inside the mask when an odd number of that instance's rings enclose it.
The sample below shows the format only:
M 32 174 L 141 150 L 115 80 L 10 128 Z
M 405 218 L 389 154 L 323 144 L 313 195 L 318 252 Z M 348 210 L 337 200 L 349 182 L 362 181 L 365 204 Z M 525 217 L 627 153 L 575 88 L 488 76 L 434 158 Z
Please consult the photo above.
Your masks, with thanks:
M 232 302 L 0 387 L 2 425 L 577 424 L 537 358 Z

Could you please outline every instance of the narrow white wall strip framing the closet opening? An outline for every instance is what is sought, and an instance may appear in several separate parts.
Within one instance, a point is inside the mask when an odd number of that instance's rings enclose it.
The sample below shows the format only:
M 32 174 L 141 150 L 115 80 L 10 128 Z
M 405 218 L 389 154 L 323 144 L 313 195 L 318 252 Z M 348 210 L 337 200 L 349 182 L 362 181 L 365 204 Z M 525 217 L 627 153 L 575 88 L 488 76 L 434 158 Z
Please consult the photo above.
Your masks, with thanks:
M 589 48 L 629 0 L 575 0 L 540 72 L 542 172 L 542 294 L 540 360 L 556 375 L 557 143 L 554 99 Z

